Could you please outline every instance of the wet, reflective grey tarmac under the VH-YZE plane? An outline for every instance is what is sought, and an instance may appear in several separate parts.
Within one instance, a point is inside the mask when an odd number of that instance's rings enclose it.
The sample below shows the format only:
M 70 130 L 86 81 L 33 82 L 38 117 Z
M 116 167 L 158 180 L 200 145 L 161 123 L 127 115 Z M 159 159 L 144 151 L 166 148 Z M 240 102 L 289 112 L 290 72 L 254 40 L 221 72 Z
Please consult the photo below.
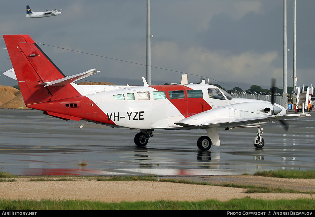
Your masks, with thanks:
M 312 112 L 313 113 L 313 112 Z M 312 114 L 311 113 L 311 114 Z M 16 175 L 202 176 L 253 174 L 270 169 L 315 168 L 315 113 L 264 124 L 265 146 L 253 145 L 256 128 L 219 131 L 221 146 L 197 148 L 205 130 L 155 130 L 145 148 L 139 131 L 64 121 L 37 110 L 0 109 L 0 170 Z

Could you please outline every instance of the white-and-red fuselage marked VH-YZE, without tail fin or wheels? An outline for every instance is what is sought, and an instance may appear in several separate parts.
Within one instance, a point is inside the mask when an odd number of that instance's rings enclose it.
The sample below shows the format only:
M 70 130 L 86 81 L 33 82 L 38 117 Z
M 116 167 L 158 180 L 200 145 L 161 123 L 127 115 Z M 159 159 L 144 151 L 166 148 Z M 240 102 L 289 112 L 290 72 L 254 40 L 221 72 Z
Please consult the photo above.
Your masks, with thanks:
M 175 123 L 210 110 L 220 111 L 227 106 L 235 107 L 236 104 L 240 105 L 239 103 L 254 101 L 261 102 L 262 109 L 272 106 L 266 101 L 233 99 L 216 86 L 207 84 L 152 86 L 72 84 L 72 86 L 81 96 L 38 103 L 28 107 L 44 110 L 52 116 L 63 114 L 65 119 L 88 120 L 112 127 L 175 130 L 200 128 L 197 125 L 180 126 Z M 209 90 L 216 91 L 216 95 L 209 97 Z M 228 114 L 231 117 L 237 116 L 232 111 Z M 281 114 L 285 114 L 284 108 Z M 268 114 L 266 112 L 254 113 L 254 116 L 265 115 Z M 249 116 L 253 114 L 249 113 Z

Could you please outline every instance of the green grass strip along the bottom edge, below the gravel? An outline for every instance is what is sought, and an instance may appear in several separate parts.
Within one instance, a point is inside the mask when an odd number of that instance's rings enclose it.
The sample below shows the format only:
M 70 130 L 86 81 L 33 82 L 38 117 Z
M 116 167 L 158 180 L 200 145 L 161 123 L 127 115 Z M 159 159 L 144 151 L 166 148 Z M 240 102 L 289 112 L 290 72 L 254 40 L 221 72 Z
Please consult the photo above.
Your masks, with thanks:
M 315 201 L 261 200 L 249 197 L 228 202 L 155 201 L 104 203 L 86 200 L 1 200 L 1 210 L 314 210 Z

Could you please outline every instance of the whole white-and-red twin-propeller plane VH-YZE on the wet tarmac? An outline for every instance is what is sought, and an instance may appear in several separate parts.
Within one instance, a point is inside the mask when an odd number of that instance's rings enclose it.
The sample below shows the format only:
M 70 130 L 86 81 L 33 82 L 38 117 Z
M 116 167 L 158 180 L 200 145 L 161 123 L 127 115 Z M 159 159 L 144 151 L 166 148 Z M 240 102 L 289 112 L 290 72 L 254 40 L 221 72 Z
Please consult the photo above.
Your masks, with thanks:
M 256 148 L 264 146 L 261 125 L 272 120 L 306 117 L 286 114 L 271 102 L 232 98 L 226 91 L 205 83 L 180 85 L 111 86 L 73 83 L 98 73 L 90 69 L 66 77 L 28 35 L 3 35 L 26 107 L 63 120 L 83 120 L 111 127 L 140 130 L 134 142 L 144 147 L 155 129 L 205 129 L 197 141 L 200 150 L 220 145 L 218 128 L 257 127 Z

